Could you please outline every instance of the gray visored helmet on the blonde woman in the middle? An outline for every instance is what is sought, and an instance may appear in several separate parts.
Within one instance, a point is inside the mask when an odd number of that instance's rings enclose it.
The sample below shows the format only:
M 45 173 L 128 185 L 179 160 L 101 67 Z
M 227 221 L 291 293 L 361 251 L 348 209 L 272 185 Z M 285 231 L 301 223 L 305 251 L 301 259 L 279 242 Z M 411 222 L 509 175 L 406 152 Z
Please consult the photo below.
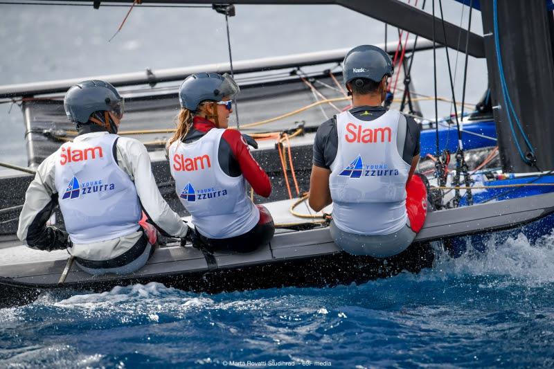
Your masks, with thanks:
M 231 75 L 225 73 L 196 73 L 189 75 L 179 87 L 181 107 L 195 111 L 202 101 L 221 101 L 235 98 L 240 89 Z

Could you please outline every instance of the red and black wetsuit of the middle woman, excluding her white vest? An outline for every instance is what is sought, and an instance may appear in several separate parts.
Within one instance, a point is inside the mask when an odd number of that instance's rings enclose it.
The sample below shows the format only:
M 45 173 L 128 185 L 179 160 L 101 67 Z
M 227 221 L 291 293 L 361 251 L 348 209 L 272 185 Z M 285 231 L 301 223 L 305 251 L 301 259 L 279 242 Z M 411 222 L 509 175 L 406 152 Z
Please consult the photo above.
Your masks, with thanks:
M 183 142 L 192 143 L 202 138 L 215 125 L 205 118 L 195 116 Z M 230 177 L 244 176 L 254 192 L 263 197 L 271 195 L 271 182 L 266 172 L 252 157 L 249 147 L 242 134 L 235 129 L 226 129 L 222 135 L 217 150 L 217 161 L 223 172 Z M 249 232 L 235 237 L 212 239 L 197 232 L 200 240 L 210 251 L 250 252 L 262 244 L 267 244 L 275 232 L 273 218 L 269 211 L 261 205 L 256 205 L 260 212 L 260 221 Z M 217 227 L 217 224 L 213 226 Z

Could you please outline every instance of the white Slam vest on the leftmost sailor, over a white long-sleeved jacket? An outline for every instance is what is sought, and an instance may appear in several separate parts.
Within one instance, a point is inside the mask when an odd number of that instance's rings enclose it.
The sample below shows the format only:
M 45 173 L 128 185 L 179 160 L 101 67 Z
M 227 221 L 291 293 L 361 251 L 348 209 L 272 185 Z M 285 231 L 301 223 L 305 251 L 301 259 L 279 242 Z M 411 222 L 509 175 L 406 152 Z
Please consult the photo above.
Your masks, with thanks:
M 112 152 L 117 138 L 103 134 L 57 150 L 55 187 L 73 243 L 113 240 L 140 228 L 136 188 Z

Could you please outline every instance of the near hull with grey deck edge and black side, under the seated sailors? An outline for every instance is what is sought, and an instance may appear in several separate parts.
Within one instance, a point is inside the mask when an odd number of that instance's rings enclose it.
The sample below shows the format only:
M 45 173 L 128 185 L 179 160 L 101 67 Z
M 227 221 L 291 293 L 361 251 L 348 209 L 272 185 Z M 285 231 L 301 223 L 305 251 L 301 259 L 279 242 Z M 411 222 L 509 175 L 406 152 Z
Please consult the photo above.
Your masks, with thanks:
M 553 228 L 554 196 L 545 194 L 431 212 L 409 249 L 386 259 L 348 255 L 332 242 L 328 227 L 321 227 L 281 231 L 270 244 L 243 255 L 215 253 L 206 257 L 191 247 L 163 247 L 131 276 L 93 278 L 72 267 L 66 282 L 60 284 L 67 258 L 60 253 L 60 258 L 53 262 L 0 265 L 0 307 L 29 303 L 45 290 L 107 291 L 116 285 L 147 282 L 210 293 L 360 283 L 404 270 L 417 273 L 431 267 L 434 251 L 430 242 L 440 241 L 448 246 L 462 242 L 465 237 L 491 234 L 509 237 L 524 233 L 540 237 Z

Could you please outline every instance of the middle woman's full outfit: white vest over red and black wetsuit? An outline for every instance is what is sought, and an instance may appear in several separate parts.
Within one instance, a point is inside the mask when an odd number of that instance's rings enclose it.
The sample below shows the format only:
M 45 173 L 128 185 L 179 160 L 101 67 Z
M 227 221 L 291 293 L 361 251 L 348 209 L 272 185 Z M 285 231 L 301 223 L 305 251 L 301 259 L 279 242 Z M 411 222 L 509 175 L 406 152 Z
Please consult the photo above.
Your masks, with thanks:
M 273 219 L 249 199 L 246 181 L 263 197 L 271 194 L 271 182 L 240 132 L 196 116 L 168 156 L 177 195 L 206 249 L 245 253 L 271 240 Z

